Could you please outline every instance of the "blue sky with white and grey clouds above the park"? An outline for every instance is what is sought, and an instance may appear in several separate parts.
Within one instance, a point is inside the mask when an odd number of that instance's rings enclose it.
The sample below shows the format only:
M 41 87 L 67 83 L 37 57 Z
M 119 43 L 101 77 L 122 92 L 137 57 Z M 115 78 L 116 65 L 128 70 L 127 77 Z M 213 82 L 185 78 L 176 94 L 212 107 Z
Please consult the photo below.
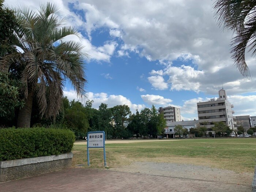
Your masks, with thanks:
M 46 0 L 5 0 L 15 8 L 37 10 Z M 175 106 L 182 120 L 198 119 L 199 101 L 225 89 L 233 116 L 256 116 L 256 65 L 246 62 L 251 77 L 240 74 L 230 54 L 232 31 L 214 18 L 214 0 L 52 0 L 65 25 L 80 31 L 85 60 L 86 99 L 93 107 L 128 105 L 144 108 Z M 71 84 L 64 95 L 78 99 Z M 80 100 L 81 101 L 81 100 Z

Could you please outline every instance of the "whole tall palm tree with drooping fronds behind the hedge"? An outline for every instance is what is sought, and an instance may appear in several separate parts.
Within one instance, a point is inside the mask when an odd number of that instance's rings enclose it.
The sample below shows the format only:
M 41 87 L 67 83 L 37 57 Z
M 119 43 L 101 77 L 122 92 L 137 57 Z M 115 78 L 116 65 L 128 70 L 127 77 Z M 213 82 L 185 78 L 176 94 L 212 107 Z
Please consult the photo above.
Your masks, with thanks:
M 59 8 L 47 3 L 38 12 L 27 7 L 16 10 L 15 29 L 19 51 L 4 58 L 0 70 L 15 74 L 22 82 L 25 107 L 18 114 L 17 127 L 30 127 L 33 95 L 36 94 L 41 117 L 56 117 L 61 108 L 64 82 L 69 79 L 78 96 L 85 95 L 83 46 L 68 41 L 79 35 L 73 27 L 63 26 Z M 47 96 L 46 96 L 47 95 Z

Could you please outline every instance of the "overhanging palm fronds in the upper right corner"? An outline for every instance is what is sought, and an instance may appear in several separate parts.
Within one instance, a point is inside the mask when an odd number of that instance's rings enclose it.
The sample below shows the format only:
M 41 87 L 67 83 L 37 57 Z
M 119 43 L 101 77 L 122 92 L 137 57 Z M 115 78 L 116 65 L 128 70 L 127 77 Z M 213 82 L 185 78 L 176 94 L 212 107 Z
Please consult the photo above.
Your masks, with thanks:
M 256 0 L 217 0 L 214 4 L 219 26 L 232 30 L 236 37 L 231 42 L 231 54 L 242 75 L 250 72 L 245 61 L 245 49 L 256 54 Z

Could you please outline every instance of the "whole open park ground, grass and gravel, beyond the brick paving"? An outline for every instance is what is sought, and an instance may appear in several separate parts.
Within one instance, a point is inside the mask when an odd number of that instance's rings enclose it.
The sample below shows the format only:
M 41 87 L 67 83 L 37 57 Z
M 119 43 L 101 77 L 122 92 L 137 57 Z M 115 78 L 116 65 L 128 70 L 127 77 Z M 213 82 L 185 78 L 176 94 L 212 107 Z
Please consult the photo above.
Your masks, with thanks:
M 76 142 L 73 167 L 103 168 L 103 150 Z M 256 139 L 107 140 L 109 170 L 251 185 Z

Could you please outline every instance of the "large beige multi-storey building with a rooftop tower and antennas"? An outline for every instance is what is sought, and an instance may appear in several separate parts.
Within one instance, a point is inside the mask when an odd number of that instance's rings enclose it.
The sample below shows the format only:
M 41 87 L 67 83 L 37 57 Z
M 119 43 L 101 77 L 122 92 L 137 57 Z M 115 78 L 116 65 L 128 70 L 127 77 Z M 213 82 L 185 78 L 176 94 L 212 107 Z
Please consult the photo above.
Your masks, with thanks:
M 208 131 L 214 125 L 214 122 L 225 122 L 230 129 L 234 128 L 233 113 L 234 106 L 227 101 L 226 91 L 219 90 L 219 98 L 211 99 L 206 102 L 197 103 L 197 113 L 200 125 L 206 125 Z

